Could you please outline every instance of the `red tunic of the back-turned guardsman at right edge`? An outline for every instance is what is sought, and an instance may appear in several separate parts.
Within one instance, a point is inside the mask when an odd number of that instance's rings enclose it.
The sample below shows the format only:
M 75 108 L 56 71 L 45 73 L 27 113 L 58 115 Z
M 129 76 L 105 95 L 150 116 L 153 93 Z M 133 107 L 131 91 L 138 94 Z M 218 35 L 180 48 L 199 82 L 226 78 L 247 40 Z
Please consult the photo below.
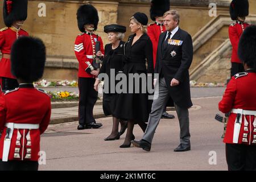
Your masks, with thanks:
M 238 73 L 229 81 L 224 96 L 218 104 L 222 113 L 232 109 L 252 110 L 256 112 L 256 73 Z M 256 114 L 255 114 L 256 115 Z M 255 115 L 242 115 L 242 124 L 238 143 L 256 144 Z M 234 123 L 237 114 L 230 113 L 224 143 L 233 143 Z

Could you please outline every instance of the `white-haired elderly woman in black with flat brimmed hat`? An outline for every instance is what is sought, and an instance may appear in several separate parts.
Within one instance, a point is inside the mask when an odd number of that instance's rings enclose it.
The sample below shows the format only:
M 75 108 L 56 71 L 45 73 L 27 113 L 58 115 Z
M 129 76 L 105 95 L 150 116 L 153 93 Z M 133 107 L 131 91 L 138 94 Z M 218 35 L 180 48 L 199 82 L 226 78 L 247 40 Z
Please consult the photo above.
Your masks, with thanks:
M 120 26 L 118 24 L 110 24 L 104 27 L 104 32 L 108 34 L 110 44 L 106 44 L 105 46 L 105 58 L 102 63 L 102 67 L 100 69 L 98 77 L 100 78 L 101 76 L 104 76 L 102 75 L 104 73 L 106 74 L 105 76 L 108 76 L 108 80 L 106 80 L 106 78 L 104 80 L 104 94 L 102 107 L 105 115 L 112 115 L 112 109 L 115 101 L 114 97 L 116 93 L 115 83 L 113 83 L 112 80 L 110 80 L 110 73 L 113 72 L 112 76 L 115 77 L 116 73 L 121 71 L 123 67 L 122 56 L 123 46 L 125 42 L 123 42 L 122 39 L 125 36 L 124 33 L 126 32 L 126 27 Z M 96 91 L 98 90 L 98 84 L 100 84 L 99 78 L 96 78 L 96 81 L 94 83 L 94 89 L 96 89 Z M 121 123 L 121 130 L 118 133 L 119 122 Z M 119 139 L 120 135 L 125 133 L 126 128 L 127 121 L 120 121 L 120 119 L 113 117 L 112 133 L 109 135 L 109 137 L 105 138 L 104 140 Z

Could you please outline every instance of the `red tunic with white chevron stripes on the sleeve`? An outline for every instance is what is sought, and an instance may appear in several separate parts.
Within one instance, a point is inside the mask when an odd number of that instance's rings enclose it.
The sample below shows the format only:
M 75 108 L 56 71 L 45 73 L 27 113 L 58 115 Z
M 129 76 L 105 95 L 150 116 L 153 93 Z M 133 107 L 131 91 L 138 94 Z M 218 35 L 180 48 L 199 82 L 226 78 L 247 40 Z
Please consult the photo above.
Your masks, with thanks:
M 93 56 L 96 55 L 95 46 L 97 38 L 100 41 L 100 51 L 104 55 L 103 42 L 100 36 L 86 32 L 78 35 L 76 38 L 75 55 L 79 61 L 78 77 L 96 78 L 90 72 L 94 70 L 92 63 Z

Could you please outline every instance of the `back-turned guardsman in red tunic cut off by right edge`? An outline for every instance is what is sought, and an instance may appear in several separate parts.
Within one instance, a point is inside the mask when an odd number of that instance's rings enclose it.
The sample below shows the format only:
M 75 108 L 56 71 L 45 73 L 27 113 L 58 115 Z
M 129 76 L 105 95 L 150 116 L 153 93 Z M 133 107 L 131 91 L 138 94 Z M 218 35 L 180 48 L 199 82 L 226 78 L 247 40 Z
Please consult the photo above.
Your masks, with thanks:
M 246 72 L 229 81 L 218 108 L 228 113 L 224 143 L 229 170 L 256 170 L 256 26 L 247 27 L 238 45 Z

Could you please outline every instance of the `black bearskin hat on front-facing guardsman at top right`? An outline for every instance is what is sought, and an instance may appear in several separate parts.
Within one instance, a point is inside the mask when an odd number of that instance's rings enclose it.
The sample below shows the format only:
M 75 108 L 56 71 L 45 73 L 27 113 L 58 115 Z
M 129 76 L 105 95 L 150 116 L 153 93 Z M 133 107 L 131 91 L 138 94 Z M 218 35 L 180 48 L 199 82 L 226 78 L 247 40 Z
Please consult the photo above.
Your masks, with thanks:
M 248 0 L 233 0 L 229 6 L 229 13 L 232 20 L 237 20 L 237 17 L 245 17 L 249 15 Z

